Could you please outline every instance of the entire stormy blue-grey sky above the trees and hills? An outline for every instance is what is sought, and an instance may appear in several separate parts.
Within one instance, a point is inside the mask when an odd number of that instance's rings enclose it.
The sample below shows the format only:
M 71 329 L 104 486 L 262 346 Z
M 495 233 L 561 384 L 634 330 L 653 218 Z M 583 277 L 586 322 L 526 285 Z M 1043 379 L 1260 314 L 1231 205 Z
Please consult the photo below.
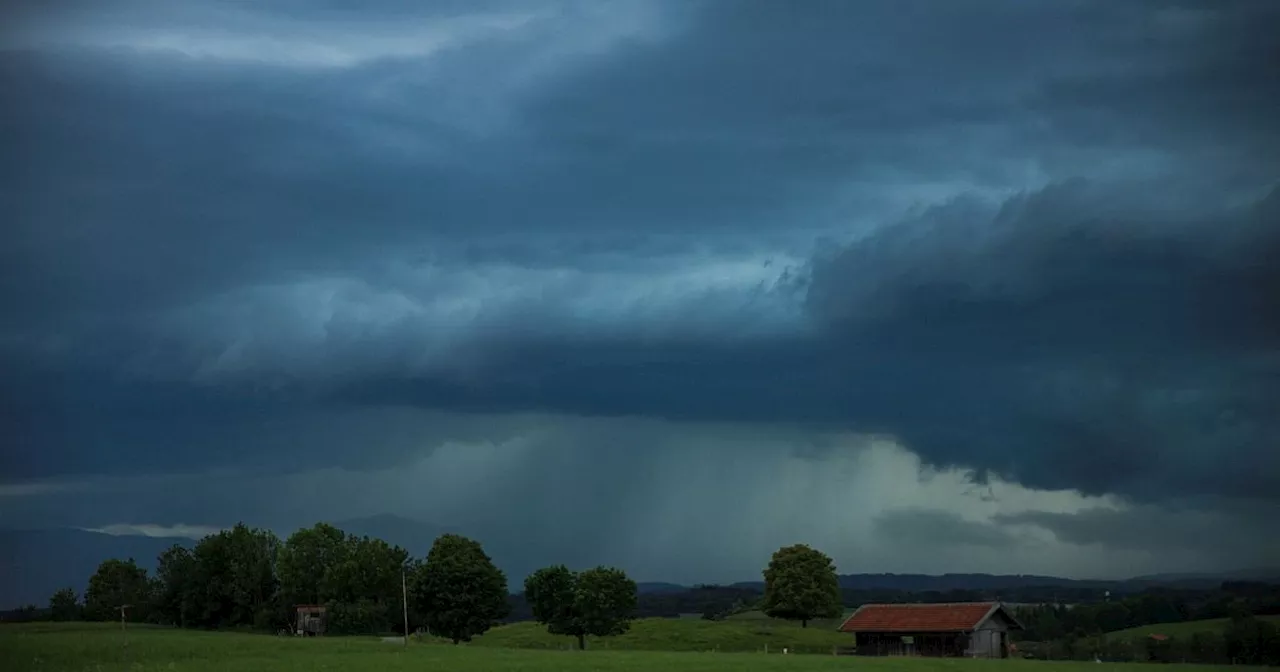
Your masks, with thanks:
M 1280 564 L 1276 3 L 0 12 L 0 527 Z

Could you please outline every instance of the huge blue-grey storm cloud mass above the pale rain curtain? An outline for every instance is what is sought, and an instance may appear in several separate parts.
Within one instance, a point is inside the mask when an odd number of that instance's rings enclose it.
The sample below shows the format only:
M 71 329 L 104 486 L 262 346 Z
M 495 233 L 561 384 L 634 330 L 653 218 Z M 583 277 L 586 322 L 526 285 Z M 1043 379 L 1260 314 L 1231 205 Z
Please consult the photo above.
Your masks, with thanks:
M 0 58 L 5 479 L 388 463 L 335 419 L 407 404 L 1280 492 L 1274 4 L 59 6 Z

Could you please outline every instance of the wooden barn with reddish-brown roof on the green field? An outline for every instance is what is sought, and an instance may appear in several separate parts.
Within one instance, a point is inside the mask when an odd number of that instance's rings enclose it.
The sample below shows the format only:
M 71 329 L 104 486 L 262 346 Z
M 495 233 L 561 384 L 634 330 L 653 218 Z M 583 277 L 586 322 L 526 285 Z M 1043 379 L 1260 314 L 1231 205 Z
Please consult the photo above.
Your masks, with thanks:
M 1007 658 L 1009 632 L 1021 630 L 998 602 L 864 604 L 840 626 L 858 655 Z

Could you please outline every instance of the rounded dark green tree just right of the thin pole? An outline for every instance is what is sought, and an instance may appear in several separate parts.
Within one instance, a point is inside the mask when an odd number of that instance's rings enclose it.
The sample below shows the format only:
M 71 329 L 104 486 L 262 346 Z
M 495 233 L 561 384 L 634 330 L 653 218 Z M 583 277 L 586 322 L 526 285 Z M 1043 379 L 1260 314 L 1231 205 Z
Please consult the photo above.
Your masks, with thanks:
M 440 535 L 413 581 L 416 611 L 428 630 L 454 644 L 471 641 L 509 613 L 507 576 L 475 540 Z

